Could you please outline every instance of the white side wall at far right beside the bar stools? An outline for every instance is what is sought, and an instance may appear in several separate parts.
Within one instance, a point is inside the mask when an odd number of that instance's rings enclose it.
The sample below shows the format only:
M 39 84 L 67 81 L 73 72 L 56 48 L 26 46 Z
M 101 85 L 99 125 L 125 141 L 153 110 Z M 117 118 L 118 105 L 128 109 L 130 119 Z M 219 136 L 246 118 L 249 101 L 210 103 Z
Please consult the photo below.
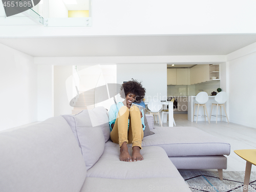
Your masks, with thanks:
M 256 83 L 256 44 L 250 45 L 249 54 L 243 48 L 231 53 L 228 66 L 229 120 L 233 123 L 256 128 L 255 83 Z M 243 53 L 243 56 L 240 54 Z M 238 58 L 234 58 L 234 54 Z

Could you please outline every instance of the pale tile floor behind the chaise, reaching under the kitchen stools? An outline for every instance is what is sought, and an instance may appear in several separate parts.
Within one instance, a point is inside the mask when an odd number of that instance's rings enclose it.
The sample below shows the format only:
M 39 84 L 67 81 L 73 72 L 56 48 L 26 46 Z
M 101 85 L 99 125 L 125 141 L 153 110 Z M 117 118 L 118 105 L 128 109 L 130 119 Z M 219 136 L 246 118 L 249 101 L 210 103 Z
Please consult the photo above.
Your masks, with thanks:
M 207 119 L 206 122 L 190 122 L 187 120 L 187 114 L 174 114 L 174 119 L 176 126 L 194 126 L 230 143 L 231 153 L 229 156 L 226 156 L 228 159 L 226 171 L 245 170 L 246 161 L 233 151 L 256 149 L 256 129 L 225 121 L 218 121 L 217 124 L 215 121 L 211 121 L 209 124 Z M 155 123 L 155 125 L 159 126 L 158 123 Z M 163 126 L 167 126 L 167 123 L 163 123 Z M 252 165 L 251 170 L 256 171 L 256 166 Z

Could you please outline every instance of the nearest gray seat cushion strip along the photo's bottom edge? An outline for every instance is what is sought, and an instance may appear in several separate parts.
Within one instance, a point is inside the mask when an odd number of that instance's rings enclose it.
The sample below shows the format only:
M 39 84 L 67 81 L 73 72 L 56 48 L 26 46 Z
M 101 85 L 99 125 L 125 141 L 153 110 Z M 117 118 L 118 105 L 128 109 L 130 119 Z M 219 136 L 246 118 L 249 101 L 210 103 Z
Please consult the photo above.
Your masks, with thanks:
M 99 184 L 100 183 L 100 184 Z M 191 192 L 182 178 L 156 177 L 142 179 L 106 179 L 87 177 L 80 192 L 111 191 L 111 192 Z

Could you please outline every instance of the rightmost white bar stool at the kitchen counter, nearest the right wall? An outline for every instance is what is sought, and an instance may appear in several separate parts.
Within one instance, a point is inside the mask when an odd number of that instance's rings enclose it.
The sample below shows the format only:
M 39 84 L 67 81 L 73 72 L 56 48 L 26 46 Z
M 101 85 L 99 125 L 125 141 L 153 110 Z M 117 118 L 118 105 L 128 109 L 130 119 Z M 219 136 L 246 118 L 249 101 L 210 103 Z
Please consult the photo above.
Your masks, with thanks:
M 212 103 L 212 104 L 211 104 L 210 118 L 211 118 L 211 116 L 216 117 L 216 123 L 217 123 L 218 117 L 221 117 L 221 121 L 222 121 L 222 117 L 227 117 L 227 112 L 226 112 L 226 108 L 225 108 L 225 102 L 227 101 L 227 93 L 224 92 L 224 91 L 218 93 L 218 94 L 215 96 L 215 101 L 216 101 L 217 103 Z M 214 107 L 214 105 L 217 105 L 216 115 L 211 115 L 211 113 L 212 113 L 212 108 Z M 224 109 L 224 112 L 225 112 L 226 116 L 222 115 L 222 112 L 221 112 L 221 115 L 218 115 L 218 107 L 219 107 L 219 106 L 220 106 L 220 109 L 221 109 L 221 106 L 223 106 L 223 109 Z M 228 118 L 227 118 L 227 122 L 229 123 Z

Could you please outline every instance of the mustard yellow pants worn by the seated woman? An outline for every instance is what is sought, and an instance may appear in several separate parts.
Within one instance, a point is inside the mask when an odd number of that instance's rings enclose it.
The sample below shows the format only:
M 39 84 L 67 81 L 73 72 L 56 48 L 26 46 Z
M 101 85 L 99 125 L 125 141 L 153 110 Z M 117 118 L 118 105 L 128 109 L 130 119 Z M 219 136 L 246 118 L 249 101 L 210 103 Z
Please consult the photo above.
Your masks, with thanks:
M 130 119 L 129 130 L 128 119 Z M 141 148 L 143 136 L 144 133 L 139 108 L 137 106 L 132 106 L 129 110 L 127 106 L 122 106 L 118 112 L 115 125 L 110 133 L 111 140 L 114 143 L 118 143 L 120 147 L 123 142 L 126 142 Z

